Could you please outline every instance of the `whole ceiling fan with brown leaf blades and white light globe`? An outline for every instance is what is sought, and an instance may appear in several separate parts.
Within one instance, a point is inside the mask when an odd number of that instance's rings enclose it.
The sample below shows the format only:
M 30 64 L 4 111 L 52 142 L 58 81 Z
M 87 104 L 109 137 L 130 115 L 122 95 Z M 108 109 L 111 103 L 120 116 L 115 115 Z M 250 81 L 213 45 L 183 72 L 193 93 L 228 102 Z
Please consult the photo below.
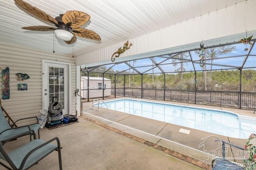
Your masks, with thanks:
M 52 18 L 42 10 L 39 10 L 38 8 L 28 4 L 27 2 L 24 2 L 23 0 L 14 1 L 18 6 L 30 14 L 33 14 L 34 16 L 37 16 L 46 22 L 54 24 L 57 27 L 29 26 L 23 27 L 22 29 L 33 31 L 54 31 L 56 37 L 64 40 L 67 44 L 76 42 L 76 36 L 97 41 L 101 40 L 100 36 L 92 30 L 80 28 L 90 20 L 90 16 L 84 12 L 67 11 L 65 14 L 60 14 L 60 16 Z

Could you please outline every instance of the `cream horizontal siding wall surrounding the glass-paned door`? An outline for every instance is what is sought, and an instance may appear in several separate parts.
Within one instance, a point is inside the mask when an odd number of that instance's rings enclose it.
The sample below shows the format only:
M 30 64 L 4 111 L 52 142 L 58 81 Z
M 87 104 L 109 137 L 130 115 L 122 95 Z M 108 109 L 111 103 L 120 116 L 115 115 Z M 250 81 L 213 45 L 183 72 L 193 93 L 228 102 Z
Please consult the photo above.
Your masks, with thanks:
M 0 43 L 0 67 L 1 69 L 9 67 L 10 69 L 10 99 L 3 100 L 2 91 L 0 91 L 0 98 L 2 106 L 14 120 L 40 115 L 42 109 L 42 59 L 71 64 L 71 114 L 76 113 L 74 95 L 76 90 L 76 58 Z M 0 70 L 1 72 L 2 70 Z M 30 78 L 18 81 L 16 73 L 26 73 Z M 2 78 L 0 83 L 2 89 Z M 27 83 L 28 90 L 18 91 L 18 83 Z

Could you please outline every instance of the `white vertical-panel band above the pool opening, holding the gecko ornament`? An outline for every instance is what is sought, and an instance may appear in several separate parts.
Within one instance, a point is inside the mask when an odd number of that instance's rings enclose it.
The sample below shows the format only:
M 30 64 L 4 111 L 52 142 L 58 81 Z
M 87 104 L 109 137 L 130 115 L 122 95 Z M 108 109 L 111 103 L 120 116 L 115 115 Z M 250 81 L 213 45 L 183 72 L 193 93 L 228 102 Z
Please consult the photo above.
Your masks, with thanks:
M 235 34 L 245 33 L 256 30 L 256 0 L 246 1 L 223 10 L 212 12 L 210 14 L 182 22 L 174 26 L 151 32 L 150 34 L 142 35 L 129 40 L 133 46 L 122 53 L 120 58 L 130 56 L 129 59 L 150 57 L 153 56 L 149 52 L 162 51 L 160 54 L 166 54 L 176 51 L 186 50 L 186 46 L 181 49 L 177 48 L 180 45 L 201 42 L 202 40 L 220 39 L 224 36 L 232 36 Z M 244 35 L 242 35 L 244 36 Z M 216 44 L 233 42 L 232 38 L 217 40 Z M 126 42 L 126 41 L 125 41 Z M 124 42 L 108 46 L 84 55 L 77 57 L 77 65 L 86 65 L 88 63 L 96 63 L 110 61 L 112 54 L 119 47 L 123 46 Z M 216 45 L 209 44 L 209 45 Z M 198 48 L 195 46 L 195 48 Z M 187 49 L 188 50 L 188 49 Z M 123 60 L 122 60 L 123 61 Z M 96 63 L 97 64 L 97 63 Z M 94 64 L 94 65 L 96 65 Z M 102 63 L 103 64 L 103 63 Z

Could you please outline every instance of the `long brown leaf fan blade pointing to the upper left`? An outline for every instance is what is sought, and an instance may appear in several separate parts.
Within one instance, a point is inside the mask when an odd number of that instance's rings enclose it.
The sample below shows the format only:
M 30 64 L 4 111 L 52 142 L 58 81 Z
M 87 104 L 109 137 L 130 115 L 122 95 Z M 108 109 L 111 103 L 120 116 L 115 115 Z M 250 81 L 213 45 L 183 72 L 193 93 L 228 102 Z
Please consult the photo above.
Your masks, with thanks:
M 24 2 L 22 0 L 14 0 L 18 6 L 29 12 L 30 14 L 33 14 L 34 16 L 37 16 L 38 18 L 50 22 L 53 24 L 58 24 L 58 22 L 52 18 L 50 15 L 46 14 L 45 12 L 39 10 L 38 8 L 28 4 L 27 2 Z

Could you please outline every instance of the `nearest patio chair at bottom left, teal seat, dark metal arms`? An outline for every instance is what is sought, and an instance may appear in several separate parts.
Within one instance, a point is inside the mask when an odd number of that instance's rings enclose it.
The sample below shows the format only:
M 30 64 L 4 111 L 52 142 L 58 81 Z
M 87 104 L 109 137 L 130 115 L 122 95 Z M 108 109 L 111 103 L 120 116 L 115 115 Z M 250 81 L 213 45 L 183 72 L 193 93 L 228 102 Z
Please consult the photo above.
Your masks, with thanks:
M 0 165 L 4 166 L 4 168 L 8 170 L 27 170 L 34 164 L 37 164 L 42 158 L 56 150 L 58 151 L 59 168 L 62 170 L 59 138 L 55 137 L 48 141 L 35 139 L 36 135 L 33 130 L 24 132 L 23 134 L 20 134 L 20 136 L 24 136 L 27 133 L 33 134 L 34 140 L 20 146 L 19 148 L 15 148 L 8 153 L 0 142 L 0 158 L 5 161 L 5 163 L 1 161 Z M 15 137 L 9 138 L 8 141 Z M 44 169 L 43 166 L 44 165 L 42 165 L 42 169 Z

